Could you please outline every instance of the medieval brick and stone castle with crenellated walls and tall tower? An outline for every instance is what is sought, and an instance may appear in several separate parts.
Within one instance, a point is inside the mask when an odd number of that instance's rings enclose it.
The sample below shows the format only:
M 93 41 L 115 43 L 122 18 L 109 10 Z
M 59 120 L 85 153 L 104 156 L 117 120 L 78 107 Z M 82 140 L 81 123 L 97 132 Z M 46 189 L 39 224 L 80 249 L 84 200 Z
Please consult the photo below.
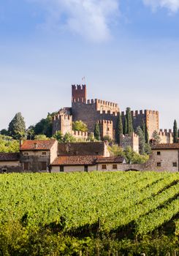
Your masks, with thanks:
M 114 102 L 107 102 L 101 99 L 87 99 L 87 88 L 85 85 L 72 85 L 72 107 L 62 108 L 53 116 L 53 134 L 61 131 L 62 134 L 69 132 L 75 138 L 88 139 L 93 135 L 96 123 L 99 124 L 101 138 L 105 136 L 110 137 L 116 141 L 117 138 L 117 124 L 118 116 L 121 113 L 124 122 L 126 113 L 121 112 L 118 104 Z M 164 132 L 159 130 L 159 112 L 156 110 L 136 110 L 131 111 L 134 131 L 137 127 L 145 127 L 148 129 L 149 139 L 152 138 L 153 132 L 159 132 L 161 143 L 172 143 L 172 131 L 165 129 Z M 72 121 L 83 121 L 87 127 L 88 132 L 77 132 L 72 130 Z M 121 138 L 121 140 L 125 138 Z M 126 138 L 129 140 L 129 137 Z M 136 140 L 136 137 L 131 136 L 131 140 Z M 131 141 L 131 144 L 134 141 Z

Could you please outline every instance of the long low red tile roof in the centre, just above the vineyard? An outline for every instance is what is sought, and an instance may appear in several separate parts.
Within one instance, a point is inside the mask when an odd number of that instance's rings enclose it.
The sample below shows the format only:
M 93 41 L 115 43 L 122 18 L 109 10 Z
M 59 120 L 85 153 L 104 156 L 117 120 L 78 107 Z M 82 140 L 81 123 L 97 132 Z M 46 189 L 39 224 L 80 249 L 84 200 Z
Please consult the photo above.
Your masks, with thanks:
M 61 156 L 57 157 L 52 165 L 95 165 L 94 156 Z

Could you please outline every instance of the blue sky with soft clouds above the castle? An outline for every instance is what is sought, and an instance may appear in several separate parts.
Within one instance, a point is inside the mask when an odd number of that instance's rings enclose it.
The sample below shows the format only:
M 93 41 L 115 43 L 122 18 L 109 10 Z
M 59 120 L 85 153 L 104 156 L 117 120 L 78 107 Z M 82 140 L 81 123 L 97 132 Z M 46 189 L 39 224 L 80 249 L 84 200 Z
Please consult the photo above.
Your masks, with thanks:
M 0 0 L 0 130 L 71 106 L 71 85 L 179 124 L 179 0 Z

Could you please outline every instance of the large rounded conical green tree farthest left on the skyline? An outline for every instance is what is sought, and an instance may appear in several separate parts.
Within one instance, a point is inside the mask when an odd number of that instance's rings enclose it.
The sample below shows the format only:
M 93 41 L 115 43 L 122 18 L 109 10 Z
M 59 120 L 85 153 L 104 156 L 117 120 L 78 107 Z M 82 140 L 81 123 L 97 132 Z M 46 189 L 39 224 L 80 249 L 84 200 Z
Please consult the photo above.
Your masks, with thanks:
M 26 137 L 26 124 L 20 112 L 10 121 L 8 133 L 14 139 Z

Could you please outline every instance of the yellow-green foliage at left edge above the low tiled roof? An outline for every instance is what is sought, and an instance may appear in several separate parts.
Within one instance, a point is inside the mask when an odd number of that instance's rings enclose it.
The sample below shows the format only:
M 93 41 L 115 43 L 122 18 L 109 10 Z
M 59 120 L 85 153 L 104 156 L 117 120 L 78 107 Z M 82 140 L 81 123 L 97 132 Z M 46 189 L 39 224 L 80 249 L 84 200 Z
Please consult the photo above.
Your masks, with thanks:
M 0 152 L 13 153 L 19 151 L 19 141 L 13 140 L 12 137 L 0 135 Z

